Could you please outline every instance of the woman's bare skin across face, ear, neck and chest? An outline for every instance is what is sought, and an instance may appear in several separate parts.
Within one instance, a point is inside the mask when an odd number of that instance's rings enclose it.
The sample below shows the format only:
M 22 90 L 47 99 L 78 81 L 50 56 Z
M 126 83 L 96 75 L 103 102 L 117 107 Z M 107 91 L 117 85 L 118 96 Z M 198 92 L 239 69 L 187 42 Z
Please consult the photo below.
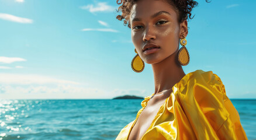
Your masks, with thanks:
M 179 40 L 188 34 L 188 22 L 184 20 L 179 23 L 178 12 L 175 10 L 172 5 L 162 0 L 140 0 L 133 5 L 130 12 L 132 41 L 140 58 L 151 64 L 155 92 L 132 128 L 129 139 L 141 139 L 172 92 L 172 86 L 186 75 L 177 60 L 177 54 Z M 152 17 L 160 11 L 165 12 Z M 134 21 L 137 18 L 140 20 Z M 153 54 L 145 54 L 142 49 L 148 43 L 157 44 L 160 49 Z

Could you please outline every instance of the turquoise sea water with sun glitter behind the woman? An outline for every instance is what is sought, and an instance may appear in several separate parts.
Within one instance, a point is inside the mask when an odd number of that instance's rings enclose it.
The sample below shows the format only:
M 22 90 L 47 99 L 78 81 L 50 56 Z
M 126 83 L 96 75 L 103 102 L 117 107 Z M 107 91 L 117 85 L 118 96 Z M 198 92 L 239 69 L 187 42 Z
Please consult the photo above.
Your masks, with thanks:
M 115 139 L 142 100 L 0 100 L 0 140 Z M 248 139 L 256 139 L 256 100 L 231 101 Z

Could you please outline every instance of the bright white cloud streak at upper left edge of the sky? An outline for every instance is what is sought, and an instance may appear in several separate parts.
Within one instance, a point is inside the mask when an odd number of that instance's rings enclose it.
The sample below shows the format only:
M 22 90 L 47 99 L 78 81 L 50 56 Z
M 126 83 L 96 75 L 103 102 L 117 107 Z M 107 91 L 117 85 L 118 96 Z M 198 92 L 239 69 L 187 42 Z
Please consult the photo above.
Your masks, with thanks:
M 8 13 L 0 13 L 0 19 L 9 20 L 11 22 L 18 22 L 18 23 L 33 23 L 32 19 L 26 19 L 23 17 L 13 16 Z

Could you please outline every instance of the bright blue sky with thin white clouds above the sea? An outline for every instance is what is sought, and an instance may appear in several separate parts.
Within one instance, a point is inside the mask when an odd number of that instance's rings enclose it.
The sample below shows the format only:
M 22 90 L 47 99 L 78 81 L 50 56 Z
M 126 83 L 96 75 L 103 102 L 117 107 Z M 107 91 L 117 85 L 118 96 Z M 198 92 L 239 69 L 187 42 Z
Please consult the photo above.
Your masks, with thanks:
M 199 1 L 186 37 L 185 74 L 217 74 L 233 98 L 256 98 L 256 1 Z M 154 93 L 136 73 L 130 29 L 116 1 L 0 0 L 1 99 L 112 99 Z

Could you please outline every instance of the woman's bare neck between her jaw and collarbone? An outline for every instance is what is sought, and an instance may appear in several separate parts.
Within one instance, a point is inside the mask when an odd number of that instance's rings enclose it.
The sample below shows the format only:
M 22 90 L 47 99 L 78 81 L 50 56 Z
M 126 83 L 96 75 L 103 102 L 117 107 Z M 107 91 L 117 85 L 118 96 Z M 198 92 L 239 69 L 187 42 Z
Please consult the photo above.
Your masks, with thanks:
M 159 63 L 151 64 L 154 74 L 155 94 L 169 90 L 186 74 L 177 58 L 178 50 Z

